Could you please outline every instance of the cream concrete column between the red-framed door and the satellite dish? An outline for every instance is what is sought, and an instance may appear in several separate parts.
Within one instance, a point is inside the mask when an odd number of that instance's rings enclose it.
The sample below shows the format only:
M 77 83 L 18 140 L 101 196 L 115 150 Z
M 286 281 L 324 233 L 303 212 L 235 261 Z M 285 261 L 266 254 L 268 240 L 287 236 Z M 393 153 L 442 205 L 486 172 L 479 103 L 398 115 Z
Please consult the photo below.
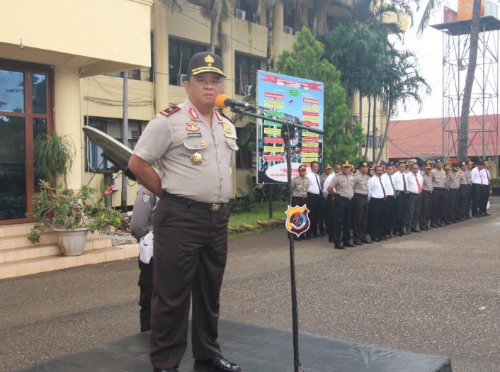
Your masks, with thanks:
M 69 188 L 80 188 L 84 172 L 85 142 L 81 130 L 80 78 L 77 69 L 55 69 L 55 130 L 69 135 L 76 147 L 76 157 L 67 176 Z M 62 180 L 61 180 L 62 181 Z

